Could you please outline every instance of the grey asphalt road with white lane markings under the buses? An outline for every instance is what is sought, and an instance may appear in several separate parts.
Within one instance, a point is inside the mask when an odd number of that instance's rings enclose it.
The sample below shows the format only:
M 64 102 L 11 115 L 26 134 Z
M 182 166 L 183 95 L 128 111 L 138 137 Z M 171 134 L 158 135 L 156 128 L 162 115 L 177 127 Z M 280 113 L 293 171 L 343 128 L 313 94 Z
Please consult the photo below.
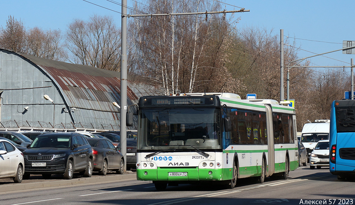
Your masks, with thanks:
M 324 204 L 324 200 L 326 204 L 355 204 L 354 194 L 354 181 L 339 181 L 328 167 L 310 170 L 308 166 L 291 171 L 287 180 L 267 178 L 258 184 L 256 180 L 243 179 L 234 189 L 184 184 L 158 192 L 151 182 L 121 179 L 23 191 L 0 190 L 0 204 Z

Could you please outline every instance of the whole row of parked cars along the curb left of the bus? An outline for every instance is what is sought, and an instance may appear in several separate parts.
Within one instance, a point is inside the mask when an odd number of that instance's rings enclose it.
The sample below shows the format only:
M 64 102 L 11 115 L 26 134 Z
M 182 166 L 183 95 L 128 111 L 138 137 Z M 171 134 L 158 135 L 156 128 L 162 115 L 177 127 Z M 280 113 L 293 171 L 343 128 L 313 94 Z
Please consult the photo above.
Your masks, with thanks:
M 119 152 L 119 142 L 120 136 L 109 132 L 21 134 L 1 131 L 0 178 L 13 178 L 14 182 L 20 183 L 31 174 L 42 174 L 44 178 L 61 174 L 64 179 L 71 179 L 75 172 L 84 177 L 91 177 L 93 171 L 102 175 L 109 170 L 122 174 L 124 157 Z M 136 146 L 136 143 L 127 143 L 127 169 L 135 167 Z

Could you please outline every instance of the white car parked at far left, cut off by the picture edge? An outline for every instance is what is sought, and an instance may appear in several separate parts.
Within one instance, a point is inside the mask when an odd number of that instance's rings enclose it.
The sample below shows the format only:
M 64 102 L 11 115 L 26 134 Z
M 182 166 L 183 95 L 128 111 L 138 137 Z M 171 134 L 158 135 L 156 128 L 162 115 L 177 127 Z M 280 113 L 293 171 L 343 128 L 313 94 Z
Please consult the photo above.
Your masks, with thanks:
M 23 154 L 7 140 L 0 139 L 0 178 L 13 178 L 22 182 L 24 172 Z

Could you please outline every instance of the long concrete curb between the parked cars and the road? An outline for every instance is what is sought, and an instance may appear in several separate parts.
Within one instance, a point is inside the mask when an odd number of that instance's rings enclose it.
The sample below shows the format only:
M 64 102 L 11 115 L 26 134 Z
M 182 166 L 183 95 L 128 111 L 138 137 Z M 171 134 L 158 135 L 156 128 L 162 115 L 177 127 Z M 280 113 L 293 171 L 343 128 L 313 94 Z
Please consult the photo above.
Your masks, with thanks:
M 4 184 L 4 185 L 0 185 L 0 193 L 17 191 L 17 190 L 22 191 L 26 189 L 59 187 L 59 186 L 87 184 L 87 183 L 99 183 L 99 182 L 116 181 L 122 179 L 136 179 L 136 178 L 137 178 L 136 173 L 132 173 L 132 174 L 122 174 L 122 175 L 115 175 L 115 176 L 90 177 L 90 178 L 79 178 L 79 179 L 70 179 L 70 180 L 59 179 L 58 181 L 50 181 L 50 182 Z

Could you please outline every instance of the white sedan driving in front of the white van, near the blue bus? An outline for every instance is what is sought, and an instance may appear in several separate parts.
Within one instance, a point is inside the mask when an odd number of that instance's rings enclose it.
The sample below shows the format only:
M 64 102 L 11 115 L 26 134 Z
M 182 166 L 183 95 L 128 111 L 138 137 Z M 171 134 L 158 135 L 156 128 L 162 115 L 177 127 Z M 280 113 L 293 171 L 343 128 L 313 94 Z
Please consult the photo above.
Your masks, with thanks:
M 310 168 L 329 166 L 329 140 L 319 140 L 310 156 Z

